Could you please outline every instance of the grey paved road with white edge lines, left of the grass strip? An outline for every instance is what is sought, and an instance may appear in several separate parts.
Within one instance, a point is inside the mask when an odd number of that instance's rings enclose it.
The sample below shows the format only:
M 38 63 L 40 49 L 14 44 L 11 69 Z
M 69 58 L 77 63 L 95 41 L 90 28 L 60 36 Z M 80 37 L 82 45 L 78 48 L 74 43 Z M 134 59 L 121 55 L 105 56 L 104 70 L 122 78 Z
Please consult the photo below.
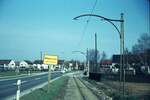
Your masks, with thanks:
M 61 75 L 62 75 L 61 72 L 53 72 L 51 73 L 51 79 L 54 79 Z M 32 87 L 47 82 L 48 73 L 0 80 L 0 100 L 3 100 L 9 96 L 16 94 L 17 90 L 16 82 L 18 79 L 21 80 L 21 92 L 23 92 L 27 89 L 31 89 Z

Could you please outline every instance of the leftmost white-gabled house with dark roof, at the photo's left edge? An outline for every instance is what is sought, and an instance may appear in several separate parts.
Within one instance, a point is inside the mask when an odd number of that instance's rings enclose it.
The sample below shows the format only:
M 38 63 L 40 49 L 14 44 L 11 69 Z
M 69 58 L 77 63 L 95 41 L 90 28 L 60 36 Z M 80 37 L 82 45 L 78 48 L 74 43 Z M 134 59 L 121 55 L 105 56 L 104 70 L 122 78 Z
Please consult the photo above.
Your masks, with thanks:
M 0 60 L 0 67 L 8 70 L 15 69 L 15 61 L 13 60 Z

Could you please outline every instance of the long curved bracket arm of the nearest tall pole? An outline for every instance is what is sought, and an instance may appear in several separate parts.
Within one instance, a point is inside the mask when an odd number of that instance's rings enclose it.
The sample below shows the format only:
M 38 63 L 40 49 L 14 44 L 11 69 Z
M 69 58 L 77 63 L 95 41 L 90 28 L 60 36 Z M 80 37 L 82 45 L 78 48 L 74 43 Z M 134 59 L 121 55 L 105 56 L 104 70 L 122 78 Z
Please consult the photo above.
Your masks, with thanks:
M 122 38 L 121 32 L 119 31 L 118 27 L 113 23 L 113 21 L 114 22 L 124 22 L 124 20 L 109 19 L 109 18 L 100 16 L 100 15 L 95 15 L 95 14 L 83 14 L 83 15 L 79 15 L 79 16 L 73 18 L 73 20 L 77 20 L 78 18 L 85 17 L 85 16 L 93 16 L 93 17 L 98 17 L 98 18 L 101 18 L 103 20 L 106 20 L 107 22 L 109 22 L 110 24 L 112 24 L 115 27 L 115 29 L 119 33 L 119 37 Z

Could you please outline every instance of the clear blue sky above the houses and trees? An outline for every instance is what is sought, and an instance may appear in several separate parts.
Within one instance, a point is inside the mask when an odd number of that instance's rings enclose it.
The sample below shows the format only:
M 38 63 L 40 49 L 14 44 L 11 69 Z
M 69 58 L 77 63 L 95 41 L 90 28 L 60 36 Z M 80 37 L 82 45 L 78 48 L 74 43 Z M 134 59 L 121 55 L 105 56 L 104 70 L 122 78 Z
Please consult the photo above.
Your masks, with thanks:
M 40 52 L 59 59 L 85 60 L 94 48 L 107 57 L 119 54 L 119 35 L 105 21 L 91 17 L 72 20 L 91 13 L 95 0 L 0 0 L 0 59 L 36 60 Z M 93 14 L 120 19 L 124 13 L 125 48 L 129 50 L 142 33 L 149 33 L 148 0 L 97 0 Z M 120 28 L 120 23 L 114 22 Z

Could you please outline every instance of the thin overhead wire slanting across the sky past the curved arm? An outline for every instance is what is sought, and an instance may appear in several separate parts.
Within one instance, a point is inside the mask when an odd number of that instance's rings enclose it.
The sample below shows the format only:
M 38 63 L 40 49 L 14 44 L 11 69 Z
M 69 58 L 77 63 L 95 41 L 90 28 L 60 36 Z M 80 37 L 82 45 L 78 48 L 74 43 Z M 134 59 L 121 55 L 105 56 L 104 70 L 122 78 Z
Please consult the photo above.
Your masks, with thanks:
M 97 1 L 98 1 L 98 0 L 95 0 L 94 5 L 93 5 L 93 7 L 92 7 L 92 9 L 91 9 L 90 14 L 93 14 L 94 9 L 95 9 L 96 4 L 97 4 Z M 83 41 L 83 38 L 84 38 L 84 36 L 85 36 L 85 32 L 86 32 L 86 30 L 87 30 L 87 27 L 88 27 L 88 24 L 89 24 L 89 21 L 90 21 L 90 20 L 91 20 L 91 16 L 88 17 L 88 19 L 87 19 L 87 21 L 86 21 L 86 24 L 85 24 L 85 26 L 83 27 L 82 36 L 81 36 L 81 38 L 80 38 L 80 41 L 79 41 L 78 44 L 77 44 L 77 47 L 80 46 L 81 42 Z

